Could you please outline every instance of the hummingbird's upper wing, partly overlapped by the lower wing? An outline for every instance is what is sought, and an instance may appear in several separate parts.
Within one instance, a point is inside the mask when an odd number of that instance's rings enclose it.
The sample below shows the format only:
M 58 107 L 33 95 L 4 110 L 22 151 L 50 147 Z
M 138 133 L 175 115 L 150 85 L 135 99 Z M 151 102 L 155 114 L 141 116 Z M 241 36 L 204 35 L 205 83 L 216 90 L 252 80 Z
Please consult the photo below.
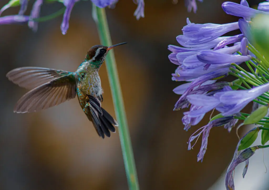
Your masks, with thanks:
M 9 71 L 6 77 L 20 87 L 34 89 L 39 85 L 69 73 L 68 71 L 42 67 L 20 67 Z

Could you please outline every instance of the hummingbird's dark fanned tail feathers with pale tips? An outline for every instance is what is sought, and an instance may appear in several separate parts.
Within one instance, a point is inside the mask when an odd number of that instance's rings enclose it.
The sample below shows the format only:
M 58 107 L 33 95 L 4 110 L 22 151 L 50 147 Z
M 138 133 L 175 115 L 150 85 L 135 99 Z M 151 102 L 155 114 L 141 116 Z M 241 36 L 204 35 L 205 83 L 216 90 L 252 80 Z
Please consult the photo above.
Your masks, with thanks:
M 99 136 L 105 138 L 110 137 L 110 131 L 115 132 L 115 126 L 118 126 L 118 123 L 115 119 L 101 107 L 100 101 L 91 95 L 87 95 L 89 100 L 85 105 L 85 113 L 90 121 L 93 122 L 93 126 Z

